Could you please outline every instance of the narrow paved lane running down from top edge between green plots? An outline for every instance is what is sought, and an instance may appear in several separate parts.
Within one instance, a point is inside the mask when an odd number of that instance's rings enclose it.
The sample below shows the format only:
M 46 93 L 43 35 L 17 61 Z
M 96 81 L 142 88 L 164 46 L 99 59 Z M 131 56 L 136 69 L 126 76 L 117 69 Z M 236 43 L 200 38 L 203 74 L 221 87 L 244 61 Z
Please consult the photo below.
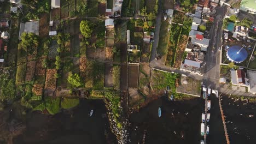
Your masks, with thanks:
M 159 43 L 159 33 L 160 33 L 160 27 L 161 27 L 161 21 L 162 21 L 162 4 L 161 0 L 159 2 L 159 9 L 158 9 L 158 15 L 156 16 L 156 24 L 155 24 L 155 33 L 154 33 L 154 43 L 152 46 L 152 51 L 151 51 L 151 56 L 150 56 L 150 61 L 152 62 L 155 59 L 156 56 L 156 49 L 158 48 L 158 43 Z

